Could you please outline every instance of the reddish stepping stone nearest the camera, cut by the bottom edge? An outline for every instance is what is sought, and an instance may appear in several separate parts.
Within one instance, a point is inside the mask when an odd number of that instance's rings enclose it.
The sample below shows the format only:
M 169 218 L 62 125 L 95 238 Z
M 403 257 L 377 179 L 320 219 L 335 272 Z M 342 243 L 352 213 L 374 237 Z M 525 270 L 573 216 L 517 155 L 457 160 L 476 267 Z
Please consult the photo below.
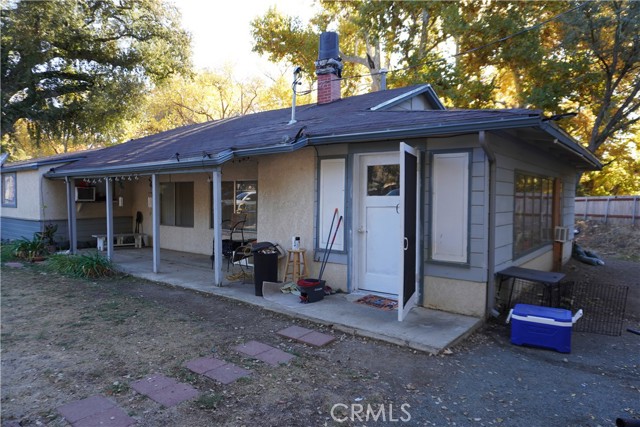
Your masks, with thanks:
M 136 423 L 114 402 L 103 396 L 91 396 L 58 408 L 74 427 L 128 427 Z

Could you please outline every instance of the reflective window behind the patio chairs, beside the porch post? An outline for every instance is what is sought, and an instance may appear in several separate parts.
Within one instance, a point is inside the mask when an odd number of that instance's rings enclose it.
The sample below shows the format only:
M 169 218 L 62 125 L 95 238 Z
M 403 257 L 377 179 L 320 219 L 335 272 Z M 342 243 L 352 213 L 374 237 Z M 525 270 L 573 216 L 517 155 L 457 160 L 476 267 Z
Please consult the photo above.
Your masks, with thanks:
M 222 220 L 236 213 L 247 215 L 245 230 L 257 231 L 258 226 L 258 181 L 222 181 Z M 209 186 L 209 226 L 213 227 L 213 184 Z M 223 226 L 227 226 L 224 223 Z

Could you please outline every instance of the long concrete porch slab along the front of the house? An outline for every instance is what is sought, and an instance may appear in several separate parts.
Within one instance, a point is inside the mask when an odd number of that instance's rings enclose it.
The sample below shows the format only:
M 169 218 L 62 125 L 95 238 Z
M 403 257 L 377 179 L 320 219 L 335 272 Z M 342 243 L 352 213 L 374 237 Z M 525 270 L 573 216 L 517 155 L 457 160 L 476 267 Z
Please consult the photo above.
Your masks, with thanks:
M 119 270 L 136 277 L 226 297 L 429 353 L 438 353 L 454 345 L 482 324 L 480 318 L 423 307 L 413 308 L 403 322 L 398 322 L 396 311 L 356 303 L 364 295 L 358 293 L 338 293 L 311 304 L 299 303 L 298 297 L 291 294 L 271 297 L 265 294 L 266 298 L 263 298 L 255 295 L 253 279 L 228 280 L 226 263 L 222 286 L 215 286 L 209 256 L 161 249 L 161 258 L 162 268 L 157 273 L 153 272 L 151 248 L 114 251 L 113 262 Z M 232 266 L 230 274 L 238 271 L 239 267 Z

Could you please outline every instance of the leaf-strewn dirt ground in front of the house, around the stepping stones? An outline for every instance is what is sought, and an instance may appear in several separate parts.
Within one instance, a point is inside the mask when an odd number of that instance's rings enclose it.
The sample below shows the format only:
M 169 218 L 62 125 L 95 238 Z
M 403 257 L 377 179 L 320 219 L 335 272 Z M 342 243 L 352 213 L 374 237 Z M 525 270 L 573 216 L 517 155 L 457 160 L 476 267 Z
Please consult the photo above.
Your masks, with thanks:
M 627 284 L 637 298 L 640 263 L 603 255 L 605 266 L 572 261 L 566 271 Z M 613 426 L 617 417 L 640 419 L 640 336 L 626 331 L 574 333 L 572 352 L 563 354 L 512 345 L 509 328 L 490 321 L 429 356 L 131 277 L 86 281 L 41 265 L 3 265 L 1 292 L 3 426 L 66 426 L 56 408 L 96 394 L 140 426 Z M 625 329 L 640 329 L 634 301 Z M 294 324 L 336 341 L 315 348 L 276 334 Z M 232 349 L 250 340 L 296 357 L 272 367 Z M 183 367 L 205 355 L 252 374 L 222 385 Z M 165 408 L 130 388 L 153 373 L 192 384 L 200 397 Z M 367 408 L 378 418 L 367 417 Z

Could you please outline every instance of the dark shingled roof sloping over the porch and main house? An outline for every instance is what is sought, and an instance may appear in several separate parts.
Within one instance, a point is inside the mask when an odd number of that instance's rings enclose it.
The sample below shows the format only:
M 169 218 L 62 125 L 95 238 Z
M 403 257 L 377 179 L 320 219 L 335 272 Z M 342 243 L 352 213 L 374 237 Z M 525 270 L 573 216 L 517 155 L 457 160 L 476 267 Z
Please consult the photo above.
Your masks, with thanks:
M 307 145 L 367 142 L 456 135 L 478 131 L 530 128 L 536 145 L 562 145 L 565 156 L 580 169 L 599 169 L 598 160 L 537 110 L 372 110 L 427 85 L 373 92 L 296 109 L 264 111 L 246 116 L 183 126 L 123 144 L 83 153 L 83 158 L 53 168 L 47 176 L 98 176 L 212 168 L 234 157 L 286 153 Z M 520 137 L 522 139 L 522 137 Z

